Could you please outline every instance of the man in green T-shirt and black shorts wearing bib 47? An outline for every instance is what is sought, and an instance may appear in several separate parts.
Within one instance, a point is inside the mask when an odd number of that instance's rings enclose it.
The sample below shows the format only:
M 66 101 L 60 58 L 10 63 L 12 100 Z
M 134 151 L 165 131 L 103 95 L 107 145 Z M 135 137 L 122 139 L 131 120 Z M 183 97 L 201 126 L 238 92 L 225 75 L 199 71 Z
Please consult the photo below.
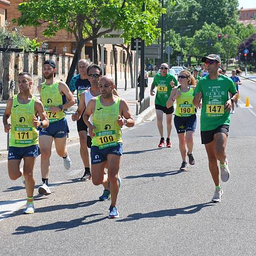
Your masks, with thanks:
M 157 128 L 161 136 L 158 147 L 162 148 L 164 146 L 164 131 L 163 131 L 163 114 L 166 114 L 166 126 L 167 126 L 167 139 L 166 147 L 170 148 L 170 134 L 172 130 L 172 113 L 174 111 L 173 106 L 170 108 L 166 107 L 166 102 L 170 97 L 172 86 L 178 85 L 176 78 L 168 73 L 169 67 L 167 63 L 161 65 L 161 74 L 156 74 L 154 81 L 151 85 L 150 94 L 155 95 L 154 88 L 157 86 L 156 98 L 155 98 L 155 108 L 156 108 L 156 119 L 157 119 Z M 171 81 L 174 81 L 174 85 L 171 86 Z

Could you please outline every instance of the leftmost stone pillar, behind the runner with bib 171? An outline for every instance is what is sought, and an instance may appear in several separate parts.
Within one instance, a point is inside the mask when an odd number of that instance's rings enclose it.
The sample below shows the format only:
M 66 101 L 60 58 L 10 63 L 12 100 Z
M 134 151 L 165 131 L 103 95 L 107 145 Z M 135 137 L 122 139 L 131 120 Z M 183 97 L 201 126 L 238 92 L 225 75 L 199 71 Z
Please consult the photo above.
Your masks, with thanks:
M 14 52 L 4 53 L 3 100 L 9 99 L 14 94 L 14 58 Z

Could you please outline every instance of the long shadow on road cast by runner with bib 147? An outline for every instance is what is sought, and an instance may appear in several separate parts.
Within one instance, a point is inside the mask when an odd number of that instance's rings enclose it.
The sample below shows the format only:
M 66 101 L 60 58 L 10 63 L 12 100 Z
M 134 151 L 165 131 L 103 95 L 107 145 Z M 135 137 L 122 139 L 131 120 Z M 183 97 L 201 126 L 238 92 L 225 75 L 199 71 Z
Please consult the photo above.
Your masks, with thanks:
M 117 220 L 118 222 L 125 222 L 131 220 L 139 220 L 146 218 L 163 218 L 163 217 L 174 217 L 178 214 L 193 214 L 202 210 L 204 207 L 213 206 L 214 203 L 208 202 L 203 204 L 195 204 L 182 208 L 169 209 L 169 210 L 161 210 L 155 212 L 148 213 L 133 213 L 127 216 L 126 219 Z

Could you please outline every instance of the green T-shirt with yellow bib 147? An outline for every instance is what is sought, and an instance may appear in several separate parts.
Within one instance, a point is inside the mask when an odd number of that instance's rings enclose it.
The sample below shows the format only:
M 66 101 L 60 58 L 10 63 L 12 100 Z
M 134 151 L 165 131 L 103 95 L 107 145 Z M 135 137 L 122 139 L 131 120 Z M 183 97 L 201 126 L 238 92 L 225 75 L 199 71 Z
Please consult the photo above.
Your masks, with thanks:
M 220 75 L 217 79 L 210 79 L 209 75 L 201 78 L 193 93 L 202 93 L 201 110 L 201 131 L 211 131 L 218 126 L 230 122 L 230 113 L 224 109 L 226 101 L 229 99 L 229 92 L 236 93 L 236 87 L 233 81 Z

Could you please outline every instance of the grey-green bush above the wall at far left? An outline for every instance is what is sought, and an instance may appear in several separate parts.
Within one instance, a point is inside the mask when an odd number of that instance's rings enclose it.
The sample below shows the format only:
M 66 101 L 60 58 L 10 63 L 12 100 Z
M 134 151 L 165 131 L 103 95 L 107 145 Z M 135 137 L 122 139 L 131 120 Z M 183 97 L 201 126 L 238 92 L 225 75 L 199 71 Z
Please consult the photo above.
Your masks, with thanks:
M 7 24 L 0 27 L 0 44 L 4 45 L 4 38 L 8 36 L 12 39 L 12 47 L 23 49 L 23 51 L 35 51 L 39 47 L 40 43 L 37 43 L 37 38 L 30 40 L 28 37 L 22 35 L 21 27 L 17 27 L 17 30 L 16 32 L 10 31 Z

